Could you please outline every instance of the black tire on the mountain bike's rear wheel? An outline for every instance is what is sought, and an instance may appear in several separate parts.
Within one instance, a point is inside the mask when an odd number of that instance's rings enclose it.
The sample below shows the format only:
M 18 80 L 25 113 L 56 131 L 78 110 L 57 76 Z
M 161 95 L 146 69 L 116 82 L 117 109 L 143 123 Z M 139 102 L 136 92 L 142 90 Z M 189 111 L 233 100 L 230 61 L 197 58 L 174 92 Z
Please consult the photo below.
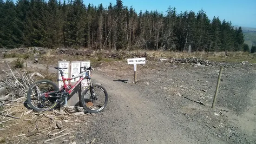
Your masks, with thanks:
M 42 83 L 48 83 L 50 85 L 53 85 L 55 91 L 59 90 L 59 87 L 53 82 L 53 81 L 50 81 L 50 80 L 39 80 L 35 83 L 33 83 L 32 85 L 30 85 L 30 87 L 28 88 L 28 91 L 27 91 L 27 102 L 28 104 L 30 105 L 30 107 L 35 110 L 35 111 L 51 111 L 53 110 L 56 106 L 57 106 L 57 102 L 55 101 L 55 103 L 53 103 L 53 105 L 49 106 L 49 108 L 38 108 L 37 106 L 33 105 L 32 103 L 32 100 L 31 100 L 31 92 L 34 88 L 34 86 L 38 85 L 38 84 L 42 84 Z

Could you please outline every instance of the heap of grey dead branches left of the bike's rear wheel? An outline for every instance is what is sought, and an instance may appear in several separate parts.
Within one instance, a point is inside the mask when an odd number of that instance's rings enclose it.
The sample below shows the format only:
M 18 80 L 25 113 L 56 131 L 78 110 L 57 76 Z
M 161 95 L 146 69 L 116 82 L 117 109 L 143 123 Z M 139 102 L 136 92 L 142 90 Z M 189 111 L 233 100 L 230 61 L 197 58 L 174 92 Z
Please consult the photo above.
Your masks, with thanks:
M 19 73 L 16 71 L 14 74 L 8 63 L 7 66 L 10 71 L 6 72 L 2 70 L 7 75 L 0 80 L 0 86 L 6 87 L 6 93 L 8 93 L 8 95 L 5 97 L 0 97 L 0 101 L 14 100 L 14 98 L 26 96 L 29 86 L 35 82 L 33 76 L 37 75 L 44 78 L 44 76 L 38 72 L 27 74 L 27 72 Z

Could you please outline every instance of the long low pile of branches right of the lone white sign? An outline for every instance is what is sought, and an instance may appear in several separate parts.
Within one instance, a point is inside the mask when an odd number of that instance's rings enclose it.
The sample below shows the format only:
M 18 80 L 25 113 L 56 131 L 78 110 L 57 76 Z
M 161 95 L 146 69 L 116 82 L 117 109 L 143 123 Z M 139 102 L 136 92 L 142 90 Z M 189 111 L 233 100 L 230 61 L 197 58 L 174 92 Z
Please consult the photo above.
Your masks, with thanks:
M 203 66 L 214 66 L 212 62 L 208 60 L 202 60 L 197 58 L 184 58 L 184 59 L 160 59 L 160 60 L 169 60 L 171 63 L 194 63 L 196 65 L 203 65 Z

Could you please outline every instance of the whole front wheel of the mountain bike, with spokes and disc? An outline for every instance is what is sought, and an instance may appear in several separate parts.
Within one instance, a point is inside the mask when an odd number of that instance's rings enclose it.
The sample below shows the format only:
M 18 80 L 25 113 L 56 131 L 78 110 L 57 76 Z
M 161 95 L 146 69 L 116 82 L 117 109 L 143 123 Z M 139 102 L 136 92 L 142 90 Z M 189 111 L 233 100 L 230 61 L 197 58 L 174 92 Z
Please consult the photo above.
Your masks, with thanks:
M 86 111 L 97 113 L 106 107 L 108 94 L 103 86 L 94 85 L 83 92 L 80 101 Z

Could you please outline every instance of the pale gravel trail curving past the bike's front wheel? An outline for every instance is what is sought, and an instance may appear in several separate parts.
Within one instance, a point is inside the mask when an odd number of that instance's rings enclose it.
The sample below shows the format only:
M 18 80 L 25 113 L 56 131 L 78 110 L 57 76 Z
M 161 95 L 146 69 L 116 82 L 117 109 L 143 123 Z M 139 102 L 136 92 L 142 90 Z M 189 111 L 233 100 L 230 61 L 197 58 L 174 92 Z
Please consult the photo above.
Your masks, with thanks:
M 100 137 L 97 144 L 197 144 L 197 137 L 206 138 L 208 144 L 223 143 L 203 133 L 193 137 L 177 124 L 180 117 L 171 109 L 169 114 L 164 113 L 158 101 L 142 98 L 136 85 L 97 74 L 92 79 L 102 83 L 110 96 L 106 110 L 98 114 L 100 120 L 95 120 L 97 124 L 85 128 L 90 132 L 97 131 L 94 135 Z M 93 139 L 93 134 L 84 138 Z M 79 144 L 85 139 L 79 137 Z

